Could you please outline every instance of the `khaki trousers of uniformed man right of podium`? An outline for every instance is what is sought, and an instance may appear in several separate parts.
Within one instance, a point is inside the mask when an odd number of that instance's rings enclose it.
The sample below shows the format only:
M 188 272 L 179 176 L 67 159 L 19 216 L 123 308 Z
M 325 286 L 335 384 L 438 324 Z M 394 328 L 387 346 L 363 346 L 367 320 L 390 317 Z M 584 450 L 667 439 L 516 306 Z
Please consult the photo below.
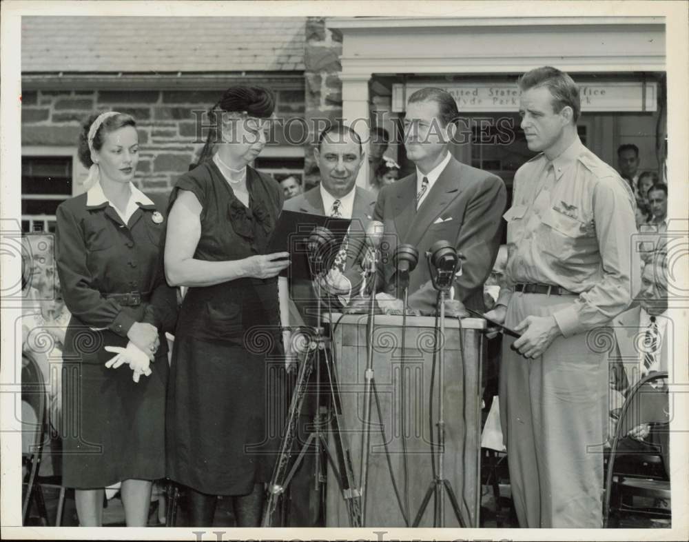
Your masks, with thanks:
M 506 325 L 549 316 L 576 299 L 515 292 Z M 601 527 L 612 335 L 605 331 L 558 337 L 538 359 L 503 339 L 500 418 L 522 528 Z

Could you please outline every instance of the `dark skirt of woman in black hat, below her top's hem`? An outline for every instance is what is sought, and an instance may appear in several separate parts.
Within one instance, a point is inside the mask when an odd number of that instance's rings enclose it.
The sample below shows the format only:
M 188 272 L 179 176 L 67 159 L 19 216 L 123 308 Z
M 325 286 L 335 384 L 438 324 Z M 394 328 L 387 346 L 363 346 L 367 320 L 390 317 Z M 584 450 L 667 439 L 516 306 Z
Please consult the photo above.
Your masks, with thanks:
M 270 481 L 284 430 L 277 348 L 178 337 L 167 394 L 167 475 L 197 491 L 245 495 Z

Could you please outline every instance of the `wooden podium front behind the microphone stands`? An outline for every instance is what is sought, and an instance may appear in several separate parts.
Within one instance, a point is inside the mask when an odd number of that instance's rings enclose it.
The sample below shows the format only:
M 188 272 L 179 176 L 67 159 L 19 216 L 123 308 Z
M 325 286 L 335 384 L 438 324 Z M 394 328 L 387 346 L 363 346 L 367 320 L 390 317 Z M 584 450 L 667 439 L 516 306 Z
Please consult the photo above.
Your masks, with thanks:
M 364 431 L 364 373 L 367 367 L 367 315 L 332 314 L 333 353 L 340 383 L 342 411 L 351 446 L 356 486 L 360 487 Z M 460 330 L 461 323 L 461 330 Z M 402 503 L 405 501 L 404 457 L 407 458 L 409 522 L 413 522 L 433 481 L 429 398 L 435 344 L 434 317 L 407 317 L 402 361 L 402 317 L 376 315 L 373 335 L 373 372 L 382 411 L 378 416 L 371 401 L 369 474 L 365 511 L 366 527 L 405 527 L 393 478 Z M 480 508 L 481 365 L 485 342 L 482 319 L 445 320 L 444 478 L 449 480 L 466 527 L 478 527 Z M 442 339 L 439 339 L 440 343 Z M 438 357 L 436 356 L 436 359 Z M 433 384 L 433 441 L 438 442 L 438 370 Z M 404 397 L 402 397 L 404 374 Z M 404 401 L 404 428 L 400 406 Z M 382 423 L 381 423 L 382 422 Z M 385 440 L 381 428 L 384 429 Z M 404 436 L 404 439 L 402 438 Z M 332 439 L 331 439 L 332 442 Z M 387 442 L 389 461 L 384 443 Z M 403 453 L 406 444 L 406 454 Z M 334 453 L 334 448 L 330 447 Z M 438 454 L 435 454 L 438 457 Z M 436 470 L 438 464 L 436 461 Z M 391 475 L 392 470 L 392 475 Z M 363 500 L 362 500 L 363 502 Z M 433 527 L 433 496 L 420 527 Z M 445 494 L 445 525 L 458 527 L 449 497 Z M 347 508 L 338 479 L 329 468 L 327 479 L 327 527 L 349 527 Z

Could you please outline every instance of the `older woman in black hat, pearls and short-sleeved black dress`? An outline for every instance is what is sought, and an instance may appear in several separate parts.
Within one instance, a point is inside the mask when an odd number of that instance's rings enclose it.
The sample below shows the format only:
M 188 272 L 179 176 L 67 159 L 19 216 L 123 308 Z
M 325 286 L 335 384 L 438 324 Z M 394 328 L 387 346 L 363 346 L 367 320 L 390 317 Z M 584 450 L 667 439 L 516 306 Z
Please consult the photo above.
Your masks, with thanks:
M 273 110 L 269 90 L 227 90 L 209 113 L 220 133 L 170 197 L 165 274 L 189 290 L 172 354 L 167 474 L 187 486 L 192 525 L 212 525 L 217 495 L 234 497 L 239 526 L 259 525 L 282 430 L 277 275 L 289 254 L 265 252 L 283 194 L 249 166 Z

